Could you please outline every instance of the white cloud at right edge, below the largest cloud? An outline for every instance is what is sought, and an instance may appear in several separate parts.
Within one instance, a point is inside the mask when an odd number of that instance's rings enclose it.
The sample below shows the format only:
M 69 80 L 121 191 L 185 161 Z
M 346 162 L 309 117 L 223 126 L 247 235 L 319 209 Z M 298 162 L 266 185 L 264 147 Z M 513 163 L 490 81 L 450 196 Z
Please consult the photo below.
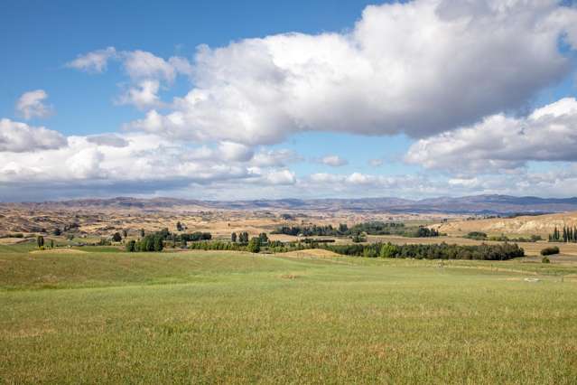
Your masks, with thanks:
M 577 100 L 565 98 L 527 117 L 505 114 L 479 124 L 424 138 L 405 160 L 451 172 L 495 172 L 527 161 L 577 161 Z

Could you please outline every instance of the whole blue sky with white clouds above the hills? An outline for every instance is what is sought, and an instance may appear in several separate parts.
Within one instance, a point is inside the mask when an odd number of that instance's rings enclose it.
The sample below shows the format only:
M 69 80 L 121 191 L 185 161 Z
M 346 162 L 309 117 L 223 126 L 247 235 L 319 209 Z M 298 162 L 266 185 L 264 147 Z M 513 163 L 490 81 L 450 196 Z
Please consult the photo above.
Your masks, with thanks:
M 572 2 L 0 4 L 0 201 L 577 195 Z

